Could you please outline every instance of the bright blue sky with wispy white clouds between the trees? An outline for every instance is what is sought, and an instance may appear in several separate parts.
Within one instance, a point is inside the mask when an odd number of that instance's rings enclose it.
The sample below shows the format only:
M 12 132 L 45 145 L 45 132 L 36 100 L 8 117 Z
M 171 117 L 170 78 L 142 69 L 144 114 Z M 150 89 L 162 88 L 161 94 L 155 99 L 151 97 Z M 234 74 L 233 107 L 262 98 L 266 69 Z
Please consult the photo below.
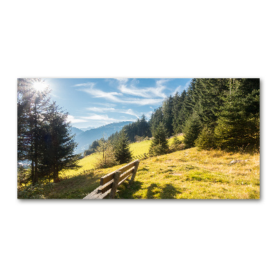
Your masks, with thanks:
M 77 128 L 100 127 L 120 121 L 134 121 L 161 106 L 163 99 L 181 93 L 191 79 L 101 78 L 45 79 L 52 99 L 69 112 Z

